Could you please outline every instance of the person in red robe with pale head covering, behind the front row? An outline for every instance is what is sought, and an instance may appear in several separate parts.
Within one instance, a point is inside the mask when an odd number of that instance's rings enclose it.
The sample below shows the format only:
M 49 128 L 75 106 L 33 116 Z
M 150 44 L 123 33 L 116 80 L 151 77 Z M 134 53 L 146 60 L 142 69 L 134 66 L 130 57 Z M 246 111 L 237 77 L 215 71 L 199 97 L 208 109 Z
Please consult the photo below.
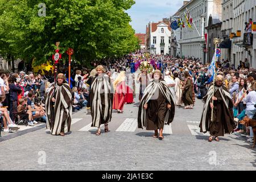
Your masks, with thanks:
M 127 85 L 125 84 L 125 72 L 119 73 L 117 79 L 113 82 L 115 89 L 113 107 L 112 109 L 117 110 L 117 113 L 123 113 L 123 105 L 125 104 L 125 96 L 127 93 Z

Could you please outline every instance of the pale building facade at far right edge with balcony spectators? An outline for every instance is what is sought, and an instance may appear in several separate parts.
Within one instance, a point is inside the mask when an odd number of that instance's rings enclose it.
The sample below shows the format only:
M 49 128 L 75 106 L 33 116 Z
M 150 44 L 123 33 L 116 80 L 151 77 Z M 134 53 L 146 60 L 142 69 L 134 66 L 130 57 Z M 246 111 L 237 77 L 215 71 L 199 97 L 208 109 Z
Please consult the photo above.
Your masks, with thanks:
M 256 36 L 251 34 L 253 41 L 249 45 L 245 34 L 245 22 L 248 23 L 249 18 L 256 22 L 256 0 L 222 0 L 222 11 L 223 38 L 232 40 L 232 47 L 222 51 L 222 59 L 230 59 L 237 67 L 247 58 L 250 67 L 256 68 Z M 231 33 L 234 36 L 230 37 Z

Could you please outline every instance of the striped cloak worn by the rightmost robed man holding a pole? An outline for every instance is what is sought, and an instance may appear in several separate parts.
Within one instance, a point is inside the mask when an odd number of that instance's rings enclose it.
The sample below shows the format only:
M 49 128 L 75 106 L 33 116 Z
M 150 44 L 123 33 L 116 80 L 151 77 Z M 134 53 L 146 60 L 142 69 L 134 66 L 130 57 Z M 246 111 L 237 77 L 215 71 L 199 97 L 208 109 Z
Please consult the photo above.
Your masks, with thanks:
M 222 101 L 224 101 L 225 109 L 222 111 L 222 114 L 225 114 L 226 118 L 229 118 L 229 119 L 226 119 L 227 121 L 225 121 L 226 122 L 225 126 L 227 127 L 233 126 L 235 125 L 235 123 L 233 119 L 234 118 L 233 117 L 233 101 L 232 101 L 232 98 L 230 97 L 230 93 L 228 92 L 225 86 L 214 86 L 214 93 L 216 93 L 217 90 L 219 90 Z M 212 101 L 212 97 L 213 97 L 213 84 L 210 85 L 207 95 L 204 96 L 203 98 L 203 100 L 205 101 L 205 104 L 204 104 L 203 113 L 201 115 L 201 122 L 199 125 L 201 133 L 207 133 L 210 127 L 210 120 L 212 117 L 212 115 L 210 114 L 212 110 L 210 108 L 210 102 Z M 214 101 L 214 102 L 217 102 L 217 101 Z

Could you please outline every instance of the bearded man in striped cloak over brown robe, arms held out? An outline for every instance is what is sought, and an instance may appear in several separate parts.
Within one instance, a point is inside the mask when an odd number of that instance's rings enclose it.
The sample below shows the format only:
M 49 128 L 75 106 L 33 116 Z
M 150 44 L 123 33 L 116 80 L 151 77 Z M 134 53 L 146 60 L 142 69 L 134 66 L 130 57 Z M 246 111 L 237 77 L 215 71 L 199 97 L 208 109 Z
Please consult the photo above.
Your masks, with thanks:
M 152 136 L 163 139 L 164 124 L 169 125 L 174 119 L 175 105 L 170 89 L 162 78 L 162 73 L 156 70 L 152 81 L 144 90 L 139 105 L 138 127 L 146 130 L 154 130 Z

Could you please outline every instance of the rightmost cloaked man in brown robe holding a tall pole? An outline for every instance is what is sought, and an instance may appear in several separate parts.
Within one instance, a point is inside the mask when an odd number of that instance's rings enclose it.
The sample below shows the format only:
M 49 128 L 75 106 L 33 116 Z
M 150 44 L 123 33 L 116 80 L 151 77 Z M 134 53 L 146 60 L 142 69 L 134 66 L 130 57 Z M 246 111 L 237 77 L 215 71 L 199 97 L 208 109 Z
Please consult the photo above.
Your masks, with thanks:
M 210 132 L 209 142 L 219 141 L 219 136 L 230 134 L 236 129 L 233 117 L 233 102 L 228 89 L 222 85 L 222 75 L 216 76 L 215 86 L 210 85 L 207 95 L 204 97 L 205 106 L 200 122 L 200 132 Z M 213 93 L 214 88 L 214 93 Z M 213 109 L 213 118 L 212 116 Z M 211 121 L 212 119 L 212 121 Z

